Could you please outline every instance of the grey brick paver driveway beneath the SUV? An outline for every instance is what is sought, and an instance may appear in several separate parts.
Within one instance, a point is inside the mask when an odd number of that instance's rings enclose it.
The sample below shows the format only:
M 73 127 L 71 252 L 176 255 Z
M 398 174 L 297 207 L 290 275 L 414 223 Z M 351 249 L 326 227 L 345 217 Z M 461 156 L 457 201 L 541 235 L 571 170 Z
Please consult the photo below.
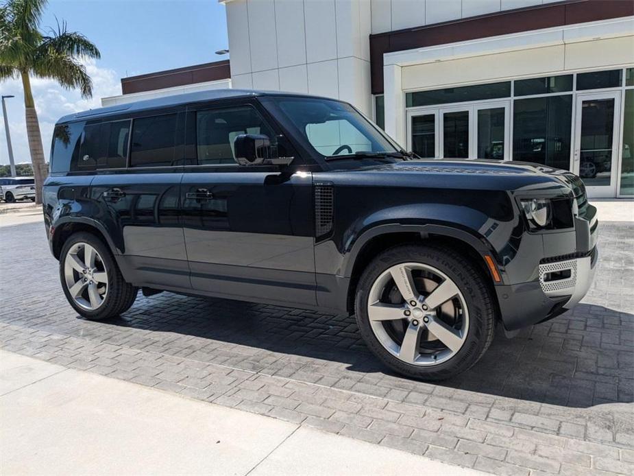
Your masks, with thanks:
M 43 226 L 0 228 L 6 350 L 498 474 L 633 474 L 634 224 L 603 223 L 581 305 L 441 384 L 378 364 L 352 318 L 159 294 L 87 322 Z M 178 425 L 178 422 L 175 422 Z

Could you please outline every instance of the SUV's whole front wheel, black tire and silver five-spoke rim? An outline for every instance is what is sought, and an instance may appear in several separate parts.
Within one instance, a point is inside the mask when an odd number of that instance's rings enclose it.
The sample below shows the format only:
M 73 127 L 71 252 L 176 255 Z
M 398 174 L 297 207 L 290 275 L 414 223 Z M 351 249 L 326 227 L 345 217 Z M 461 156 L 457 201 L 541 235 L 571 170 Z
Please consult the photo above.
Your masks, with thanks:
M 356 321 L 369 348 L 409 377 L 442 380 L 482 357 L 495 331 L 483 276 L 465 257 L 439 246 L 382 252 L 361 276 Z

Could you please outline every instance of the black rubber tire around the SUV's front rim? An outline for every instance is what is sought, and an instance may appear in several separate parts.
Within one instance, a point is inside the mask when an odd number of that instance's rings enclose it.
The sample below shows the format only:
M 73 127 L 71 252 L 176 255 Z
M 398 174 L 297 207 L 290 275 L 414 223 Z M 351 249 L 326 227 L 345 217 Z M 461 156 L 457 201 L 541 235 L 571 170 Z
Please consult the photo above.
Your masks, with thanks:
M 441 364 L 433 366 L 408 364 L 389 353 L 372 331 L 367 304 L 373 283 L 390 267 L 407 262 L 422 263 L 443 272 L 454 281 L 464 297 L 470 317 L 465 342 L 455 355 Z M 449 248 L 419 244 L 396 246 L 379 254 L 365 268 L 356 290 L 356 322 L 367 346 L 389 368 L 415 379 L 432 381 L 449 379 L 476 364 L 493 341 L 496 306 L 491 293 L 478 268 L 467 257 Z

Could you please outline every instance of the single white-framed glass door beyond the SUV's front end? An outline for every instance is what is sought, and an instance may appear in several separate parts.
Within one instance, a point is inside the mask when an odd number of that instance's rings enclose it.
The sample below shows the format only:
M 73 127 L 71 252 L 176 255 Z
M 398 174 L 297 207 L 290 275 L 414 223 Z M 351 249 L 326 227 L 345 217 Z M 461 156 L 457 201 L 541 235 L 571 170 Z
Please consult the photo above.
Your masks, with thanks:
M 572 171 L 594 197 L 616 193 L 620 92 L 577 95 Z

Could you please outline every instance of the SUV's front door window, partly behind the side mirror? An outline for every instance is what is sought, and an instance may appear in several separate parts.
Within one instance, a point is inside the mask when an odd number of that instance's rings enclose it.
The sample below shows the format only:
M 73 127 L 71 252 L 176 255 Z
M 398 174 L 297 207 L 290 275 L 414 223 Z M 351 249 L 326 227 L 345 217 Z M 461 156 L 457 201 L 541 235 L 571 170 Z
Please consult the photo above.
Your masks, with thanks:
M 240 134 L 275 133 L 251 106 L 196 112 L 196 149 L 199 165 L 236 164 L 234 141 Z

